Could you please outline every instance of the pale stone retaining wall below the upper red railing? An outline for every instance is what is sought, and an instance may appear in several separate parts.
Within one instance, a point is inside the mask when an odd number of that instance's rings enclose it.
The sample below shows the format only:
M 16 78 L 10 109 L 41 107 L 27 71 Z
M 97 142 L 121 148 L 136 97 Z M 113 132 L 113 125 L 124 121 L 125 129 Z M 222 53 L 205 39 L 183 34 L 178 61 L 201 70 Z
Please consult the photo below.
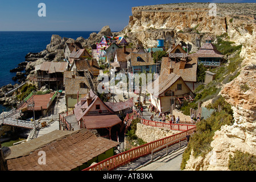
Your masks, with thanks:
M 181 131 L 170 130 L 163 127 L 146 126 L 142 123 L 137 123 L 137 130 L 135 134 L 138 138 L 141 138 L 144 142 L 148 143 L 180 132 Z

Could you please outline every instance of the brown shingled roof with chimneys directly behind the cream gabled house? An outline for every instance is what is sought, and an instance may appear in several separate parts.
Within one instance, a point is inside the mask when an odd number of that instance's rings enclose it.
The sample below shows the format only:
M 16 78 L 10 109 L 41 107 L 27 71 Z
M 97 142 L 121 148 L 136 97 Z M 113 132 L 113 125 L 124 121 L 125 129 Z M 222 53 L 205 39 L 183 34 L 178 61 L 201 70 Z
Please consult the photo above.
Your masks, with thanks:
M 171 61 L 168 57 L 162 57 L 161 63 L 161 72 L 164 68 L 174 68 L 174 72 L 177 75 L 180 75 L 184 81 L 196 82 L 196 70 L 197 70 L 197 58 L 196 57 L 187 57 L 187 63 L 185 64 L 184 69 L 180 69 L 180 62 Z

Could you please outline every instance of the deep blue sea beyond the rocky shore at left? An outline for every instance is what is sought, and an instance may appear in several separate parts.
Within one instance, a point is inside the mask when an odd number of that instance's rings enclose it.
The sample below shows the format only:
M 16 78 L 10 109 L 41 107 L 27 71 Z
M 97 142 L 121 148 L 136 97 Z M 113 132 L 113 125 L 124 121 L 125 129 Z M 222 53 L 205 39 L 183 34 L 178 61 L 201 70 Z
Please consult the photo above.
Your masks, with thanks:
M 18 67 L 25 61 L 28 52 L 40 52 L 46 49 L 51 42 L 53 34 L 61 38 L 77 39 L 80 36 L 87 39 L 92 32 L 98 31 L 0 31 L 0 87 L 7 84 L 15 84 L 12 78 L 16 73 L 10 69 Z M 0 113 L 8 107 L 0 105 Z

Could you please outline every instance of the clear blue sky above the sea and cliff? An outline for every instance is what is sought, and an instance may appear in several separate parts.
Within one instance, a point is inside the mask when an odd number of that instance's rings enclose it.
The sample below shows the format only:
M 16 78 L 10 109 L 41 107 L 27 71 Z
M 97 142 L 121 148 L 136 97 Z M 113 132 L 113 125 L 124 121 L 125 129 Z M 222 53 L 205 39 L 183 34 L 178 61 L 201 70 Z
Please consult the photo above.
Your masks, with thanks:
M 109 25 L 121 31 L 129 22 L 131 7 L 178 2 L 255 2 L 255 0 L 9 0 L 0 1 L 0 31 L 100 31 Z M 46 17 L 39 17 L 39 3 Z

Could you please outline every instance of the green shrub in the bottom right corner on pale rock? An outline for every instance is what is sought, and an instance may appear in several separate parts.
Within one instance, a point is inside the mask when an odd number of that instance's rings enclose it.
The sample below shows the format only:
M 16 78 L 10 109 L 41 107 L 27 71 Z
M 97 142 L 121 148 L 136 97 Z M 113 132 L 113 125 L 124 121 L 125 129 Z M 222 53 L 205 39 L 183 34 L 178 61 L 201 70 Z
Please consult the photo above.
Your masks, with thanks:
M 228 166 L 231 171 L 255 171 L 256 156 L 248 152 L 236 151 L 234 156 L 229 155 Z

